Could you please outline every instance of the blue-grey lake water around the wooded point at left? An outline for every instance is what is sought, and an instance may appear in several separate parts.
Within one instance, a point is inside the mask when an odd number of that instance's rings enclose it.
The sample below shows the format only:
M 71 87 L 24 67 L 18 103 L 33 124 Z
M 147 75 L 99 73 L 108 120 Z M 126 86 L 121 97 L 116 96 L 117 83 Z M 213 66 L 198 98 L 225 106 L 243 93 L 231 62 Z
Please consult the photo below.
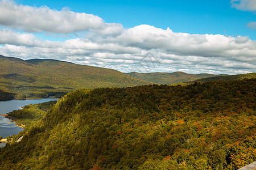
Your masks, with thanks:
M 0 101 L 0 114 L 6 114 L 14 110 L 22 109 L 28 104 L 38 104 L 44 103 L 47 101 L 52 101 L 57 99 L 35 99 L 35 100 L 7 100 Z M 0 116 L 0 137 L 6 138 L 9 135 L 18 134 L 19 131 L 22 131 L 22 128 L 19 128 L 15 125 L 15 122 L 11 122 L 10 119 Z M 4 143 L 0 143 L 0 147 L 4 146 Z

